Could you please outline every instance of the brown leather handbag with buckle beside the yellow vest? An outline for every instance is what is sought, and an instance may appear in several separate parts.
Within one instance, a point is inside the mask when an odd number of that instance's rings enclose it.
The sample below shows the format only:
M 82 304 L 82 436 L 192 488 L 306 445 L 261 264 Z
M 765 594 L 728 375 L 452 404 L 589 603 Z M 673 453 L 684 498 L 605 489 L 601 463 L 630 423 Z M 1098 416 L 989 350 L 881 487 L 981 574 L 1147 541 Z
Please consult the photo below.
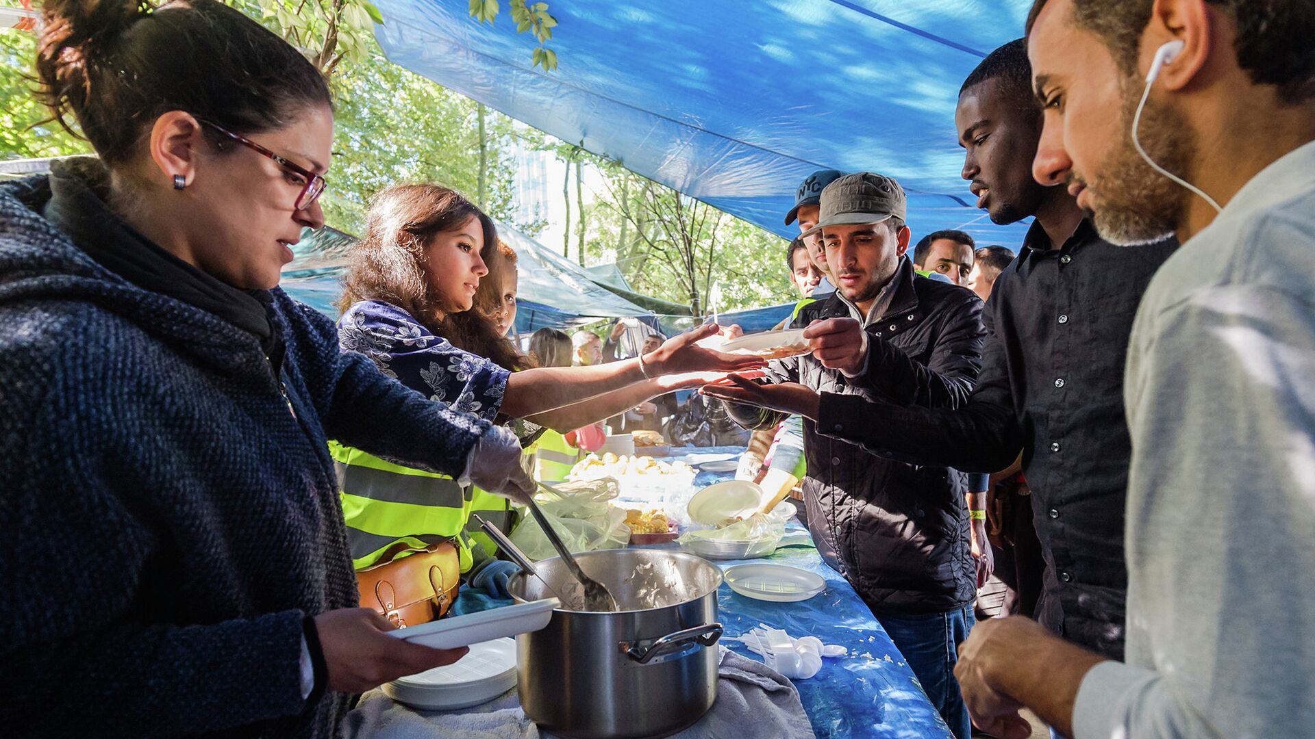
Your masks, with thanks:
M 416 626 L 443 618 L 462 585 L 462 563 L 452 542 L 426 548 L 397 542 L 381 564 L 356 571 L 360 605 L 393 625 Z

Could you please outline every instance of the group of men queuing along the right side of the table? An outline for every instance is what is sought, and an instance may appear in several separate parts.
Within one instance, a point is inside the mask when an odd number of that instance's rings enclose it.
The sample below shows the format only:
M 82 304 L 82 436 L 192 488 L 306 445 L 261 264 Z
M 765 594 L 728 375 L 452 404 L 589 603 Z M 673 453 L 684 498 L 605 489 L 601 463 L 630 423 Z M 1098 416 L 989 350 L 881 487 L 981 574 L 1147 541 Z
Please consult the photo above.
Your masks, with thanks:
M 817 348 L 705 392 L 746 426 L 806 418 L 814 538 L 956 736 L 1027 736 L 1024 706 L 1078 738 L 1315 721 L 1287 638 L 1315 623 L 1315 302 L 1291 272 L 1315 213 L 1311 30 L 1299 3 L 1039 0 L 955 113 L 978 206 L 1032 218 L 1009 262 L 956 231 L 910 259 L 897 183 L 810 178 L 834 180 L 800 218 L 836 285 L 796 318 Z M 990 485 L 965 500 L 956 471 L 1007 483 L 1003 573 L 1035 621 L 974 626 Z

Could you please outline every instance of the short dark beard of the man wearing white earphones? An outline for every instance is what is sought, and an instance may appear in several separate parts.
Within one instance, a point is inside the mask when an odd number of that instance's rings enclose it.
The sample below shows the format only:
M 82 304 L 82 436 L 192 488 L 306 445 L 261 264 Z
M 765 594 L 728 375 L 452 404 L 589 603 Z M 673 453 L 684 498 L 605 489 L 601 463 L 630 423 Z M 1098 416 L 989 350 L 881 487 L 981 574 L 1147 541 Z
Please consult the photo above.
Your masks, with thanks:
M 1132 146 L 1132 117 L 1141 97 L 1135 83 L 1124 85 L 1124 104 L 1119 128 L 1124 135 L 1105 156 L 1099 175 L 1086 180 L 1091 187 L 1094 213 L 1088 217 L 1105 241 L 1116 246 L 1155 243 L 1173 235 L 1187 214 L 1191 193 L 1182 185 L 1156 172 Z M 1165 170 L 1189 175 L 1195 158 L 1195 137 L 1186 120 L 1168 108 L 1147 101 L 1141 112 L 1137 138 L 1143 149 Z M 1069 180 L 1074 175 L 1069 175 Z

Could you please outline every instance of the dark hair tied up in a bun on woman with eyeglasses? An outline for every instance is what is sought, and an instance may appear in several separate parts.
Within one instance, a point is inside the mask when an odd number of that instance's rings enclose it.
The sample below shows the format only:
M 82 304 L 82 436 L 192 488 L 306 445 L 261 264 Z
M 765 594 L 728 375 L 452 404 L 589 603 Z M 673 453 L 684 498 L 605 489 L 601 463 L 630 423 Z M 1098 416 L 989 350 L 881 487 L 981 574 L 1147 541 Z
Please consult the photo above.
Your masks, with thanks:
M 314 64 L 218 0 L 46 0 L 43 13 L 37 95 L 110 167 L 170 110 L 249 134 L 330 105 Z

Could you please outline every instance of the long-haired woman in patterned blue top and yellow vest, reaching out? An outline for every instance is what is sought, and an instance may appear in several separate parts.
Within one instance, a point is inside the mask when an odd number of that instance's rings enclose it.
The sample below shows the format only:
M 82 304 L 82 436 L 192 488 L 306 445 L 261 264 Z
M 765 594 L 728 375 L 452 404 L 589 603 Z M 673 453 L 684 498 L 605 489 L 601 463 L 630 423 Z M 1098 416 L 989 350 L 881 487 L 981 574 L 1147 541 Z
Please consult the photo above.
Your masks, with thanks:
M 497 229 L 460 193 L 434 184 L 393 185 L 375 196 L 366 235 L 352 246 L 338 306 L 341 346 L 433 400 L 529 442 L 539 426 L 571 431 L 700 379 L 760 367 L 757 358 L 698 346 L 707 325 L 652 352 L 594 367 L 534 367 L 498 333 L 476 295 L 509 292 L 515 264 L 498 254 Z M 709 375 L 709 373 L 714 375 Z M 358 569 L 385 561 L 397 542 L 421 548 L 455 539 L 462 569 L 492 554 L 471 509 L 487 512 L 459 480 L 335 444 L 343 514 Z M 472 505 L 475 504 L 475 505 Z M 505 521 L 505 517 L 502 517 Z M 483 544 L 483 546 L 481 546 Z

